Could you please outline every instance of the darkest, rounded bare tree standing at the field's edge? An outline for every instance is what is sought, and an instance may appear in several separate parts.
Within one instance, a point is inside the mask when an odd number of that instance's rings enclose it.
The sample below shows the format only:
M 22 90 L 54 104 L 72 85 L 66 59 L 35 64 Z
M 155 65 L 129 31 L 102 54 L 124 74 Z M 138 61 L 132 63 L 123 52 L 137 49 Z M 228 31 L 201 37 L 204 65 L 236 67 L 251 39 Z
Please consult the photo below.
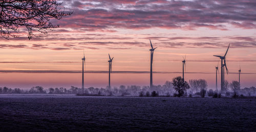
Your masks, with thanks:
M 184 91 L 189 89 L 189 85 L 186 81 L 182 79 L 181 76 L 173 78 L 173 88 L 178 92 L 177 96 L 181 97 L 184 94 Z

